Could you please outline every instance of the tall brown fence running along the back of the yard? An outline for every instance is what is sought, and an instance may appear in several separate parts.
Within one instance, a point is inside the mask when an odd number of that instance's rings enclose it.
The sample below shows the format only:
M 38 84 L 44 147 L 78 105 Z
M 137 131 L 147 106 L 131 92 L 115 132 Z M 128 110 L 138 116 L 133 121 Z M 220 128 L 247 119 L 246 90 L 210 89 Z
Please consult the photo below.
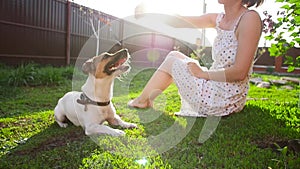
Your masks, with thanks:
M 193 44 L 68 0 L 0 0 L 0 61 L 9 65 L 32 61 L 57 66 L 74 64 L 79 56 L 85 59 L 95 55 L 97 38 L 93 26 L 97 30 L 98 24 L 100 52 L 116 41 L 122 42 L 133 53 L 133 62 L 141 66 L 149 60 L 153 66 L 159 65 L 174 46 L 180 46 L 187 55 L 195 49 Z M 87 44 L 89 47 L 83 51 Z M 149 58 L 149 51 L 158 58 Z M 291 53 L 299 56 L 299 49 Z M 211 55 L 210 48 L 205 54 Z M 272 58 L 265 52 L 254 68 L 282 73 L 286 72 L 283 63 L 282 58 Z

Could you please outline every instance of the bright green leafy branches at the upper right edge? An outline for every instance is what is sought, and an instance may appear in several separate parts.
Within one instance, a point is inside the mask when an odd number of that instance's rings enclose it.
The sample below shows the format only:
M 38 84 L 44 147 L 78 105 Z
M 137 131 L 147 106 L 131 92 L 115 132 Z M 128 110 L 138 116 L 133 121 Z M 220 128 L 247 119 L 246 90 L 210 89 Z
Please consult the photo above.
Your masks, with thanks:
M 264 32 L 269 33 L 266 40 L 274 41 L 268 49 L 271 56 L 283 56 L 285 64 L 288 64 L 288 72 L 292 72 L 296 67 L 300 67 L 300 56 L 294 59 L 287 54 L 288 50 L 300 46 L 300 1 L 299 0 L 276 0 L 283 11 L 278 11 L 279 16 L 276 21 L 267 12 L 263 20 Z

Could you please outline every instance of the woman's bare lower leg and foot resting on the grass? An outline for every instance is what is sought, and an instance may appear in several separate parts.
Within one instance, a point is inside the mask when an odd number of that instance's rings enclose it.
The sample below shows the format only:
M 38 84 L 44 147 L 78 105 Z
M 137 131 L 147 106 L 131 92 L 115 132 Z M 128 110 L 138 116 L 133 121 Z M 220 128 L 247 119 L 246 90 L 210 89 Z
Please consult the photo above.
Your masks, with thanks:
M 173 82 L 172 76 L 162 70 L 156 70 L 141 95 L 128 103 L 130 107 L 152 107 L 153 100 Z

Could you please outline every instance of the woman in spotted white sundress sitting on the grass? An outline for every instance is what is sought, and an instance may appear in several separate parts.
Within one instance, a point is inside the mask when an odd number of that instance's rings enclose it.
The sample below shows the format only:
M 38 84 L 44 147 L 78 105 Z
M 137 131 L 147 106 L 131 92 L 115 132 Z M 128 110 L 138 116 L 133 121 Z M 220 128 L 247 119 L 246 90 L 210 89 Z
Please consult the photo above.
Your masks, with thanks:
M 209 70 L 184 54 L 170 52 L 141 95 L 128 103 L 151 107 L 153 100 L 172 82 L 181 97 L 181 116 L 225 116 L 243 109 L 249 89 L 253 59 L 262 31 L 257 12 L 264 0 L 219 0 L 225 13 L 183 17 L 198 28 L 216 28 L 213 64 Z

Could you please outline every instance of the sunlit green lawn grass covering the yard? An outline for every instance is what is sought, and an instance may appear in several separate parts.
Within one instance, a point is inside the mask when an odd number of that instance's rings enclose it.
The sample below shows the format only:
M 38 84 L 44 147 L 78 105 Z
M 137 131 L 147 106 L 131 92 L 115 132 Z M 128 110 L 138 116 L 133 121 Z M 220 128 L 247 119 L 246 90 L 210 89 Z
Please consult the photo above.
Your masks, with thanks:
M 14 87 L 3 80 L 15 76 L 12 68 L 1 67 L 0 168 L 297 168 L 300 163 L 298 153 L 272 148 L 300 139 L 299 85 L 293 90 L 251 85 L 248 97 L 254 99 L 222 118 L 210 138 L 199 143 L 206 119 L 174 116 L 180 109 L 174 85 L 157 99 L 156 109 L 127 107 L 153 73 L 145 70 L 116 80 L 113 99 L 117 113 L 139 128 L 124 130 L 120 138 L 88 137 L 80 127 L 62 129 L 54 122 L 53 108 L 72 90 L 71 78 L 60 75 L 60 83 L 44 79 Z

